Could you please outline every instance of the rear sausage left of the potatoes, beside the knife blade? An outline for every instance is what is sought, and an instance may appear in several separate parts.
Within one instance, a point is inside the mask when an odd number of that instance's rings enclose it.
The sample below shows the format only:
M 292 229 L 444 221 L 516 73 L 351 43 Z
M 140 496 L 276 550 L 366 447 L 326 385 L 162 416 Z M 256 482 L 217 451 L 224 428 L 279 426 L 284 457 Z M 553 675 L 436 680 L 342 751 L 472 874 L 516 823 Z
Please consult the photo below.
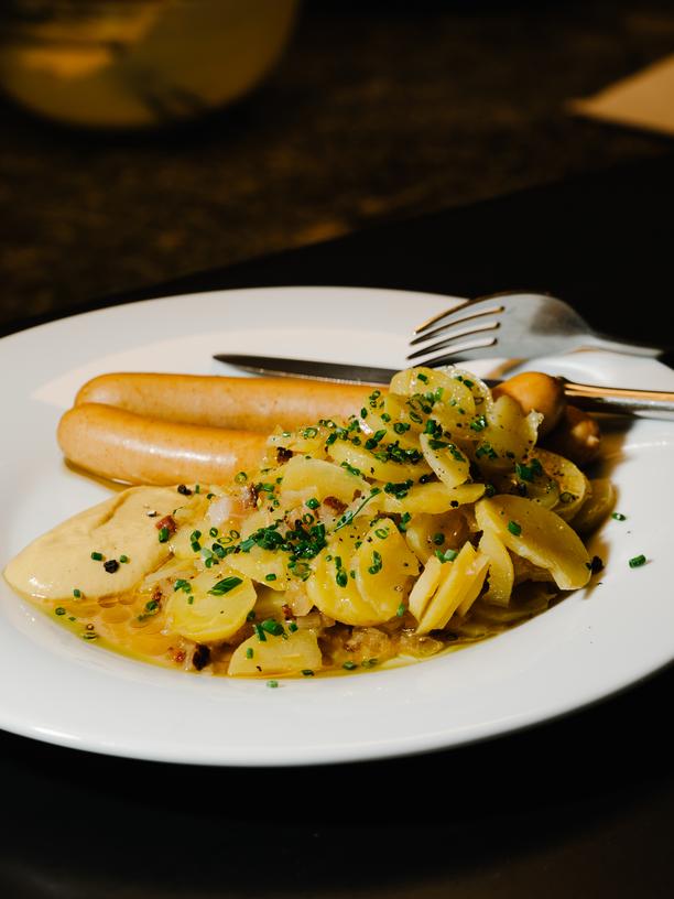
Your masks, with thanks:
M 226 378 L 218 375 L 101 375 L 79 390 L 76 405 L 105 403 L 163 421 L 270 433 L 319 419 L 346 419 L 373 388 L 300 378 Z

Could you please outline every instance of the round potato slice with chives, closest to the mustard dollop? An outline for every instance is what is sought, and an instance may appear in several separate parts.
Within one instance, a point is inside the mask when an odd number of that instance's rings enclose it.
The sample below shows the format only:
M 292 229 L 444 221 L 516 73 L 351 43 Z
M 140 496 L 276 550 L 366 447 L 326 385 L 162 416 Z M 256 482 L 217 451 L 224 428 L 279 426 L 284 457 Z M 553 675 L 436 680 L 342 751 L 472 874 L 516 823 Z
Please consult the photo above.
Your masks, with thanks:
M 240 583 L 220 595 L 209 593 L 225 578 Z M 229 581 L 229 584 L 233 584 Z M 246 622 L 256 604 L 256 588 L 248 577 L 211 568 L 189 582 L 191 593 L 176 591 L 166 604 L 166 620 L 172 630 L 196 642 L 227 640 Z M 225 588 L 227 584 L 224 585 Z

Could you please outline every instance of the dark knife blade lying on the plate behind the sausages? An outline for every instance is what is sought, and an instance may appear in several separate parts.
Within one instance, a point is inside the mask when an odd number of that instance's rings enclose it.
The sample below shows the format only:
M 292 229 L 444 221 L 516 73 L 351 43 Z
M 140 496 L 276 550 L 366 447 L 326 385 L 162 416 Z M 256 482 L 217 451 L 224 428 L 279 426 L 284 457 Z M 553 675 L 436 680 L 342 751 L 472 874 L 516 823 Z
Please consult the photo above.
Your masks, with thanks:
M 388 384 L 396 371 L 394 368 L 319 362 L 312 359 L 284 359 L 275 356 L 246 356 L 238 353 L 219 353 L 213 358 L 253 375 L 273 378 L 308 378 L 313 381 L 363 383 L 377 387 Z

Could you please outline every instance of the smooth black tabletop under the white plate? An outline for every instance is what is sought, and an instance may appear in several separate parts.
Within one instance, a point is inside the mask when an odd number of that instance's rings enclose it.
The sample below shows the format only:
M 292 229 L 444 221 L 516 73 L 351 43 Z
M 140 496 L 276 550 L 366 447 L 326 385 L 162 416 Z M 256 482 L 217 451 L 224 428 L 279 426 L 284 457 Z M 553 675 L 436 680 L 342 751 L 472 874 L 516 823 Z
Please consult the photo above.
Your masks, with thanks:
M 671 334 L 673 189 L 670 154 L 156 294 L 316 282 L 474 293 L 525 281 L 655 339 Z M 0 895 L 664 899 L 674 895 L 673 690 L 668 669 L 529 732 L 325 768 L 195 769 L 2 734 Z

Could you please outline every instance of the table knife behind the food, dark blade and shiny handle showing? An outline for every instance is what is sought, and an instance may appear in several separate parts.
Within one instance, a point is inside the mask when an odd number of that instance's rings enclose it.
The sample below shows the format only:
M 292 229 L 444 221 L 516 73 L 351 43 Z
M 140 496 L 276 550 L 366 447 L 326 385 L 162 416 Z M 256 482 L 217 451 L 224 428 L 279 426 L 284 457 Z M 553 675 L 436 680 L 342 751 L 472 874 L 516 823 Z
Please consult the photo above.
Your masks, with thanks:
M 238 353 L 218 353 L 213 357 L 219 362 L 274 378 L 303 378 L 333 383 L 362 383 L 380 387 L 388 384 L 395 375 L 393 368 L 319 362 L 312 359 L 286 359 L 278 356 L 247 356 Z M 488 387 L 500 380 L 482 378 Z M 667 390 L 635 390 L 623 387 L 599 387 L 574 383 L 565 378 L 564 392 L 567 400 L 579 409 L 613 415 L 640 415 L 648 419 L 674 421 L 674 392 Z

